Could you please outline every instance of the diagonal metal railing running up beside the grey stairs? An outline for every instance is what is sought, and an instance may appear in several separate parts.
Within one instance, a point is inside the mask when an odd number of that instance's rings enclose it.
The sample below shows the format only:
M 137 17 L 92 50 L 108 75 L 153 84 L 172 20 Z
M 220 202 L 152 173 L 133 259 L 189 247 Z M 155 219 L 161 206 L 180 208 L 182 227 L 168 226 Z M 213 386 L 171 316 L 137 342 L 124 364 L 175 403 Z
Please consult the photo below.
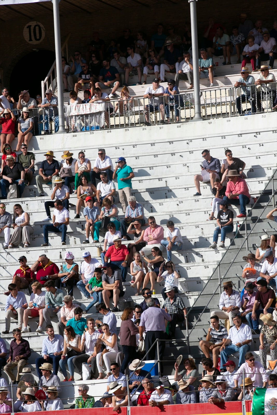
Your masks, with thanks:
M 263 215 L 263 213 L 265 212 L 265 210 L 267 209 L 267 207 L 269 206 L 269 204 L 272 202 L 272 206 L 273 208 L 275 207 L 275 195 L 277 193 L 277 190 L 275 190 L 274 187 L 274 179 L 277 178 L 277 169 L 274 171 L 274 173 L 272 174 L 272 176 L 270 177 L 269 181 L 267 182 L 265 188 L 263 189 L 262 193 L 260 194 L 260 196 L 257 198 L 257 200 L 255 201 L 254 205 L 252 206 L 252 208 L 250 209 L 250 211 L 248 212 L 247 217 L 245 217 L 245 219 L 243 220 L 243 222 L 240 225 L 240 228 L 237 230 L 237 232 L 235 232 L 235 235 L 233 237 L 233 239 L 230 241 L 230 245 L 229 247 L 226 249 L 226 251 L 224 252 L 221 260 L 218 262 L 216 268 L 214 269 L 213 273 L 211 274 L 211 276 L 208 278 L 208 281 L 206 282 L 206 285 L 203 287 L 202 291 L 199 293 L 199 295 L 196 297 L 194 304 L 191 306 L 191 308 L 187 311 L 186 315 L 185 315 L 185 321 L 186 321 L 186 342 L 187 342 L 187 346 L 188 349 L 190 350 L 190 346 L 189 346 L 189 336 L 191 335 L 191 333 L 193 332 L 194 328 L 196 327 L 197 323 L 199 322 L 199 320 L 201 319 L 203 313 L 206 311 L 206 309 L 208 308 L 208 305 L 211 303 L 211 300 L 213 299 L 213 297 L 217 294 L 217 291 L 219 289 L 219 294 L 221 294 L 221 283 L 223 281 L 223 279 L 228 275 L 230 268 L 233 266 L 233 263 L 235 262 L 235 259 L 237 258 L 238 254 L 240 253 L 240 251 L 243 249 L 244 245 L 246 246 L 246 249 L 248 250 L 248 239 L 250 234 L 253 232 L 253 229 L 255 228 L 255 226 L 257 225 L 257 223 L 260 221 L 261 216 Z M 272 194 L 270 195 L 270 198 L 268 200 L 268 202 L 266 203 L 265 207 L 263 208 L 261 214 L 259 215 L 259 217 L 257 218 L 257 220 L 255 221 L 255 223 L 253 224 L 252 228 L 250 229 L 250 232 L 248 232 L 247 229 L 247 225 L 248 225 L 248 217 L 249 215 L 252 213 L 253 209 L 256 207 L 257 203 L 260 202 L 260 199 L 262 198 L 262 196 L 264 196 L 265 190 L 267 188 L 269 188 L 271 185 L 272 188 Z M 244 225 L 245 228 L 245 236 L 243 236 L 242 234 L 242 225 Z M 225 274 L 223 276 L 221 276 L 220 273 L 220 266 L 223 263 L 223 259 L 225 258 L 225 256 L 229 253 L 229 249 L 232 246 L 235 238 L 238 236 L 238 234 L 240 234 L 241 236 L 243 236 L 243 243 L 240 246 L 240 248 L 238 249 L 238 251 L 236 252 L 233 260 L 230 262 L 227 271 L 225 272 Z M 218 273 L 218 286 L 216 287 L 216 289 L 213 291 L 213 294 L 211 295 L 211 297 L 208 300 L 208 303 L 205 305 L 204 309 L 202 310 L 202 312 L 200 313 L 199 317 L 197 318 L 196 322 L 194 323 L 194 326 L 191 328 L 191 330 L 189 331 L 189 327 L 188 327 L 188 316 L 191 313 L 191 311 L 193 310 L 194 306 L 196 305 L 197 301 L 199 300 L 199 298 L 201 297 L 203 291 L 205 291 L 205 289 L 208 287 L 208 283 L 209 281 L 211 281 L 212 277 L 214 276 L 215 273 Z

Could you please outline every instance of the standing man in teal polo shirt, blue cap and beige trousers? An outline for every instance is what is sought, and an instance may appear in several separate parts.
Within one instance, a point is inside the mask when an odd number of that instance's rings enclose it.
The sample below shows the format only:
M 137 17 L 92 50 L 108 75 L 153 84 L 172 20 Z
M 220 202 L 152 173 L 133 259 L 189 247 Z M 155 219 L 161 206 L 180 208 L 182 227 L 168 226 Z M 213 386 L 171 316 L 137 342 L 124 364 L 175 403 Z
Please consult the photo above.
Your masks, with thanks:
M 132 178 L 135 177 L 133 170 L 130 166 L 127 166 L 126 159 L 124 157 L 118 157 L 115 161 L 117 166 L 113 172 L 113 180 L 118 178 L 118 194 L 119 200 L 122 205 L 123 213 L 126 212 L 128 206 L 128 198 L 131 195 Z

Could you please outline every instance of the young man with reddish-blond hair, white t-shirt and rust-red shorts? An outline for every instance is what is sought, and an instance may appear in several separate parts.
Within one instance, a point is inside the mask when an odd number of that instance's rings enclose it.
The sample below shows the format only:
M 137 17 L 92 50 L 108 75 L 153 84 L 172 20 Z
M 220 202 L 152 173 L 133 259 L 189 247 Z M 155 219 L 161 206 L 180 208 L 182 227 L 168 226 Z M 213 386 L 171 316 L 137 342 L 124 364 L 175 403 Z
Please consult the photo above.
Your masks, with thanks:
M 42 310 L 45 308 L 45 292 L 42 291 L 42 284 L 39 281 L 32 283 L 32 294 L 29 301 L 29 308 L 23 313 L 23 328 L 22 333 L 28 332 L 29 317 L 39 317 L 39 325 L 36 332 L 42 332 L 43 314 Z

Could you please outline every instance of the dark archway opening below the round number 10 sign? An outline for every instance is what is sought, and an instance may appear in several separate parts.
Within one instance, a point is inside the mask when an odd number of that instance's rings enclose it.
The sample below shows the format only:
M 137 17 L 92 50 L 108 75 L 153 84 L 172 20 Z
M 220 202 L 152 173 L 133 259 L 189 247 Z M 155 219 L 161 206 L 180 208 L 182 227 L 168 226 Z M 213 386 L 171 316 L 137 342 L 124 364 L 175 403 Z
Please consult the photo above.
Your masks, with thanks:
M 29 89 L 32 98 L 38 93 L 41 94 L 41 81 L 47 75 L 54 60 L 54 51 L 39 50 L 25 55 L 17 62 L 10 76 L 10 93 L 15 100 L 22 89 Z

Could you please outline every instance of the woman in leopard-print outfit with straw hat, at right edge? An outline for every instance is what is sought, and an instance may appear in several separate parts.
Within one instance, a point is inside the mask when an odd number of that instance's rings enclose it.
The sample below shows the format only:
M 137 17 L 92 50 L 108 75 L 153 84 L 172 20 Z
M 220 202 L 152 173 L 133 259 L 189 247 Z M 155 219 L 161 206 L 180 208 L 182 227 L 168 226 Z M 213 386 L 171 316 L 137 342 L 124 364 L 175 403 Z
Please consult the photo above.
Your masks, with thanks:
M 264 323 L 260 334 L 260 361 L 266 369 L 267 354 L 270 354 L 271 360 L 277 359 L 277 322 L 270 313 L 261 314 L 260 320 Z

